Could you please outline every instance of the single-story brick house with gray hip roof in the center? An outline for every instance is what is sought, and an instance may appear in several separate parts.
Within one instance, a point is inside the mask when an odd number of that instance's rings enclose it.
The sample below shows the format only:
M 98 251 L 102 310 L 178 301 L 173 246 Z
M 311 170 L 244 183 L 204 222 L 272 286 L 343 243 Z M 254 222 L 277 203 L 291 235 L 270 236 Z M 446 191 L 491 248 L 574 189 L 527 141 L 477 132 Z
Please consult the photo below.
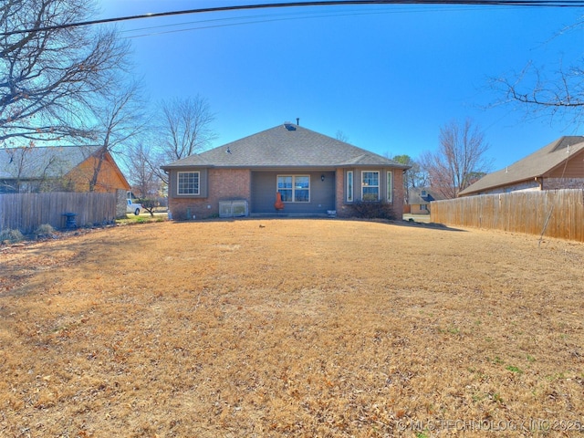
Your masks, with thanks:
M 332 212 L 346 217 L 361 200 L 391 203 L 401 218 L 408 168 L 292 123 L 162 166 L 174 219 Z

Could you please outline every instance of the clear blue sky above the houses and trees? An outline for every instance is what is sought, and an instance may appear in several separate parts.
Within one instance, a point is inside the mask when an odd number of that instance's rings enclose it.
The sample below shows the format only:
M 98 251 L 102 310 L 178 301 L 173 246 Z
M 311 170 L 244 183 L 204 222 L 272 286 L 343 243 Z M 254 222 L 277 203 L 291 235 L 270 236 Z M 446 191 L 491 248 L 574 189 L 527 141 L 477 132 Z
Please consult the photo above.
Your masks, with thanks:
M 266 1 L 100 0 L 101 17 Z M 584 127 L 526 117 L 489 78 L 532 62 L 552 73 L 584 55 L 582 8 L 370 5 L 294 7 L 122 22 L 151 103 L 197 95 L 220 146 L 284 121 L 390 156 L 435 151 L 470 118 L 494 170 Z

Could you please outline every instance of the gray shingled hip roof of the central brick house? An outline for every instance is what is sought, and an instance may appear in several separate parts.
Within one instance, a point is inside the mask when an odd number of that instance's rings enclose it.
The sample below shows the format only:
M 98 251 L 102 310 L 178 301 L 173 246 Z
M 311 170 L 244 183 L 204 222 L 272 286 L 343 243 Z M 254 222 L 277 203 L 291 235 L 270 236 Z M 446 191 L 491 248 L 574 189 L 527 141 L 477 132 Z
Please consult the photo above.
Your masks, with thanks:
M 384 166 L 409 169 L 376 153 L 313 130 L 284 123 L 210 151 L 171 162 L 162 169 L 180 167 L 349 167 Z

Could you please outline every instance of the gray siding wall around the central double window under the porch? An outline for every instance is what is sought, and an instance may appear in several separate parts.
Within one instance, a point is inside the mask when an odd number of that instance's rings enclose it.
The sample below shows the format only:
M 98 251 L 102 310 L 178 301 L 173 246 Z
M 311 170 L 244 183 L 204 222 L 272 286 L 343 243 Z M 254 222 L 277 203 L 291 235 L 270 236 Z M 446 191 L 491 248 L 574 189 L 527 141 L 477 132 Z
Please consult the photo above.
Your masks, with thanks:
M 281 170 L 270 172 L 252 172 L 252 202 L 250 213 L 276 213 L 277 175 L 309 175 L 310 202 L 285 203 L 284 214 L 327 214 L 335 209 L 335 172 L 303 172 L 299 170 Z M 321 181 L 321 175 L 325 181 Z

